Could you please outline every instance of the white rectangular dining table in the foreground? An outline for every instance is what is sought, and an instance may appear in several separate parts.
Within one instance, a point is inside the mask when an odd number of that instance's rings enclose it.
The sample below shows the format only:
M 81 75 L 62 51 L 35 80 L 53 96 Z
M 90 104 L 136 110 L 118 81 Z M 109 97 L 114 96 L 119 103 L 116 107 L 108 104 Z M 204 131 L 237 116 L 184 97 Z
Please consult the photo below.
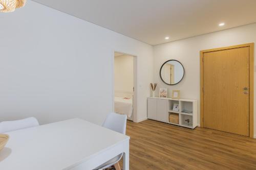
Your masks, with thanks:
M 0 152 L 3 170 L 91 170 L 123 155 L 129 169 L 130 137 L 82 119 L 70 119 L 7 133 Z

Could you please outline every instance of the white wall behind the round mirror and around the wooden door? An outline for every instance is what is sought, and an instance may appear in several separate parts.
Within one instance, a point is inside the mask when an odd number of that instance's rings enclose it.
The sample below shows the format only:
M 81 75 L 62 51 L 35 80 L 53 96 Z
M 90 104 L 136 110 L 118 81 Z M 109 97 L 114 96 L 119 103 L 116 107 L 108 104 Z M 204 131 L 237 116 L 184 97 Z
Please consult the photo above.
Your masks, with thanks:
M 256 42 L 256 23 L 154 46 L 154 81 L 158 83 L 158 89 L 159 87 L 168 88 L 169 96 L 172 95 L 172 90 L 181 90 L 181 98 L 197 99 L 200 106 L 199 52 L 210 48 L 250 42 Z M 165 85 L 159 77 L 161 65 L 170 59 L 180 61 L 185 68 L 184 79 L 174 86 Z M 256 60 L 254 60 L 254 63 L 256 63 Z M 254 74 L 254 82 L 256 80 L 255 78 L 256 74 Z M 254 83 L 254 89 L 256 89 L 256 83 Z M 254 106 L 256 104 L 255 92 L 256 90 L 254 90 Z M 254 136 L 256 135 L 255 109 L 254 107 Z M 200 115 L 200 110 L 198 113 Z M 200 117 L 198 117 L 198 120 L 200 120 Z

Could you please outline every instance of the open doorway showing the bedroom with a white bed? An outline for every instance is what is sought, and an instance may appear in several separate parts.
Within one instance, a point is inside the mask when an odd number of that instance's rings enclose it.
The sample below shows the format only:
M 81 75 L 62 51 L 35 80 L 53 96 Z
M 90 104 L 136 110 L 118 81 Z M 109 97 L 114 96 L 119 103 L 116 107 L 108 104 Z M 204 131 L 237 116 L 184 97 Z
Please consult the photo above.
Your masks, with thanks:
M 114 53 L 113 111 L 137 122 L 137 57 Z

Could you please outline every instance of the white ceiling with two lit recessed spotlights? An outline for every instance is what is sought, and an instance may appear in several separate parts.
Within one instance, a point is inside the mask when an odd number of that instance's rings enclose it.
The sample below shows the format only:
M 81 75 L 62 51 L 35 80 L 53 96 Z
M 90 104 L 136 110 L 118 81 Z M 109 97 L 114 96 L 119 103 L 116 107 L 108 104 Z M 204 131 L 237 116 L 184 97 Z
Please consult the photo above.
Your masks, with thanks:
M 152 45 L 256 22 L 256 0 L 34 1 Z

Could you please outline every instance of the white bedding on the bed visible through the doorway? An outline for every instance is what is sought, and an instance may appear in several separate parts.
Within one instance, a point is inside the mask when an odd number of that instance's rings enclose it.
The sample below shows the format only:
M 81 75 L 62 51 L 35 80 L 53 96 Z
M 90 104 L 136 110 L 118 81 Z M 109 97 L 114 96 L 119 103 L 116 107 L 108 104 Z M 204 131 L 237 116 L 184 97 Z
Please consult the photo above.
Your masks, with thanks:
M 115 97 L 115 112 L 131 117 L 133 113 L 133 99 Z

